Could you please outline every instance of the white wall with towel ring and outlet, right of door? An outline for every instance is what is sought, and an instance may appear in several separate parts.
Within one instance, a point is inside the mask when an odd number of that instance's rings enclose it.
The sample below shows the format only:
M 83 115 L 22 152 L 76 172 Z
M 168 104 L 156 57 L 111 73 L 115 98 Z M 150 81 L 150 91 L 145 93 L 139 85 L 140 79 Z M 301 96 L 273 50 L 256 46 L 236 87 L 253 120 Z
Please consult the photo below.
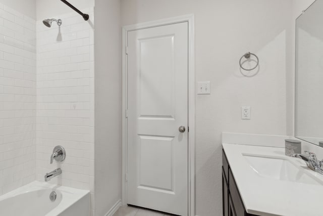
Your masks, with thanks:
M 286 135 L 291 130 L 286 87 L 291 5 L 122 0 L 122 25 L 195 14 L 196 80 L 211 81 L 211 94 L 196 96 L 197 215 L 222 215 L 221 132 Z M 244 76 L 239 59 L 248 51 L 258 55 L 260 69 Z M 241 106 L 251 106 L 251 120 L 241 120 Z

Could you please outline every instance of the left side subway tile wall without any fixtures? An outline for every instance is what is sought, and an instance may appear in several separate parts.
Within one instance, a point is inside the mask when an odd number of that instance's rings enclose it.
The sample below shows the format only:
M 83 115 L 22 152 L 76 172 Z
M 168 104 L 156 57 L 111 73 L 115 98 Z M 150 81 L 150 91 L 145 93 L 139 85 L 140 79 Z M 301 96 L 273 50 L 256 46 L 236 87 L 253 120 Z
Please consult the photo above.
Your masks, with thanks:
M 0 195 L 36 178 L 36 21 L 0 4 Z

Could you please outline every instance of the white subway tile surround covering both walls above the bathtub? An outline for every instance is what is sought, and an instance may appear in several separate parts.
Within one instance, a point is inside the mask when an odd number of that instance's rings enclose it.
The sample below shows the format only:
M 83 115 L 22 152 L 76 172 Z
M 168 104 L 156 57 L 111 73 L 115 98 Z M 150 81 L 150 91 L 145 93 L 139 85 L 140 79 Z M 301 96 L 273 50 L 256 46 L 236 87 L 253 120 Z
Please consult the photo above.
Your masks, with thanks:
M 0 4 L 0 194 L 57 167 L 50 183 L 91 191 L 94 214 L 94 21 L 51 28 Z M 50 164 L 55 146 L 66 160 Z

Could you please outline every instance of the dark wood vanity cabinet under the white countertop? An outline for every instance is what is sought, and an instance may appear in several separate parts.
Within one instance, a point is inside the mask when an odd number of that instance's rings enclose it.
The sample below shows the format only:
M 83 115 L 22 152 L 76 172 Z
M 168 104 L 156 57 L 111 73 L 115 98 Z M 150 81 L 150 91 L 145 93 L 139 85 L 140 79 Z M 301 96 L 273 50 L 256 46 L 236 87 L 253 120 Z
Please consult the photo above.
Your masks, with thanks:
M 222 150 L 223 216 L 257 216 L 246 212 L 233 178 L 225 152 Z

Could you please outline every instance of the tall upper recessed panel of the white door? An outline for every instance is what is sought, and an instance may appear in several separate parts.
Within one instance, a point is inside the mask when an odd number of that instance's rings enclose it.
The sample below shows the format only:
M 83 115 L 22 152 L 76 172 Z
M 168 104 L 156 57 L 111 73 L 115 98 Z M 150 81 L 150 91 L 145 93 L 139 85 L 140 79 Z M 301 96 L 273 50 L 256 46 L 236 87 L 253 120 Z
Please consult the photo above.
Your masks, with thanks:
M 143 38 L 140 43 L 140 117 L 174 118 L 174 35 Z M 165 55 L 165 54 L 168 55 Z M 167 83 L 167 84 L 165 84 Z

